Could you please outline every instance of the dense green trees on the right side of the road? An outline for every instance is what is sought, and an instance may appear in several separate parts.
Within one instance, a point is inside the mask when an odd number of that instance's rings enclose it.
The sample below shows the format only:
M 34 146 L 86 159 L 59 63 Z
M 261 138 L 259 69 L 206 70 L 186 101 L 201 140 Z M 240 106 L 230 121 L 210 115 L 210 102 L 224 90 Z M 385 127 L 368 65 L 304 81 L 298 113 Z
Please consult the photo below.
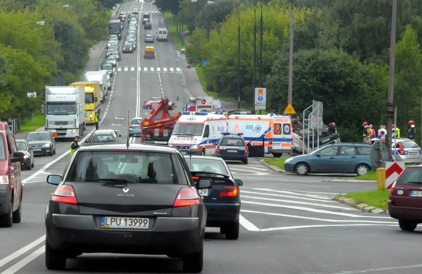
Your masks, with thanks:
M 260 0 L 155 0 L 187 27 L 186 58 L 204 71 L 207 90 L 237 98 L 238 20 L 240 21 L 240 95 L 254 100 L 266 88 L 266 110 L 287 106 L 290 9 L 294 9 L 293 99 L 300 114 L 320 101 L 325 123 L 335 121 L 342 141 L 362 142 L 362 124 L 386 123 L 392 0 L 263 0 L 262 63 Z M 224 4 L 222 3 L 224 2 Z M 402 136 L 409 120 L 421 141 L 422 4 L 400 0 L 397 8 L 394 106 Z M 239 10 L 239 14 L 236 7 Z M 254 11 L 254 7 L 256 13 Z M 182 11 L 183 10 L 183 11 Z M 202 60 L 208 64 L 199 67 Z M 259 68 L 261 67 L 261 73 Z

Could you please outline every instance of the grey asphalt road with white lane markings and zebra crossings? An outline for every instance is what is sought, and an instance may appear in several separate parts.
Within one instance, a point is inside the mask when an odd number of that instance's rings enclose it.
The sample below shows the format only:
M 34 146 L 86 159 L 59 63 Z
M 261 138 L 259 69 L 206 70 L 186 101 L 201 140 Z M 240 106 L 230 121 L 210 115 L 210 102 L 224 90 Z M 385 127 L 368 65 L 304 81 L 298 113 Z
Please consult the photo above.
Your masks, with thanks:
M 125 2 L 121 10 L 130 11 L 133 4 Z M 162 17 L 151 2 L 136 4 L 142 11 L 153 11 L 153 29 L 163 26 Z M 159 93 L 174 98 L 197 92 L 191 90 L 195 84 L 188 83 L 186 75 L 190 72 L 185 70 L 183 56 L 172 44 L 156 42 L 157 58 L 144 59 L 143 37 L 152 31 L 143 30 L 141 24 L 139 32 L 139 50 L 123 54 L 117 65 L 100 124 L 100 128 L 117 130 L 122 140 L 129 143 L 139 142 L 138 137 L 127 138 L 127 122 L 128 117 L 139 114 L 142 102 Z M 99 60 L 90 63 L 96 66 Z M 88 132 L 93 128 L 88 126 Z M 19 133 L 17 137 L 24 135 Z M 63 172 L 69 159 L 69 146 L 70 142 L 57 142 L 56 155 L 36 157 L 35 168 L 22 170 L 22 222 L 0 229 L 0 274 L 63 273 L 45 268 L 44 212 L 54 191 L 54 186 L 46 183 L 46 177 Z M 255 158 L 246 165 L 228 164 L 233 175 L 244 181 L 240 191 L 240 237 L 226 240 L 217 233 L 218 229 L 207 228 L 203 273 L 422 272 L 417 240 L 421 228 L 404 232 L 388 215 L 360 212 L 332 200 L 339 193 L 376 189 L 375 183 L 339 182 L 335 180 L 343 178 L 339 175 L 277 173 Z M 84 274 L 180 273 L 181 270 L 181 262 L 166 256 L 83 254 L 69 259 L 66 265 L 66 273 Z

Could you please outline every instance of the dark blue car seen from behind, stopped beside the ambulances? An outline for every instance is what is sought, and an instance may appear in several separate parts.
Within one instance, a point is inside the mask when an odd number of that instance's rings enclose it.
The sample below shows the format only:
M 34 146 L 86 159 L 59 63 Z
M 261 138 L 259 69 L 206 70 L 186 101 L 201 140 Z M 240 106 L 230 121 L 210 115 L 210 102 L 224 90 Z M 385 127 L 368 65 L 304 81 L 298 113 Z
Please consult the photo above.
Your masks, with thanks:
M 215 148 L 215 156 L 229 161 L 242 161 L 248 164 L 248 146 L 242 133 L 222 133 Z

